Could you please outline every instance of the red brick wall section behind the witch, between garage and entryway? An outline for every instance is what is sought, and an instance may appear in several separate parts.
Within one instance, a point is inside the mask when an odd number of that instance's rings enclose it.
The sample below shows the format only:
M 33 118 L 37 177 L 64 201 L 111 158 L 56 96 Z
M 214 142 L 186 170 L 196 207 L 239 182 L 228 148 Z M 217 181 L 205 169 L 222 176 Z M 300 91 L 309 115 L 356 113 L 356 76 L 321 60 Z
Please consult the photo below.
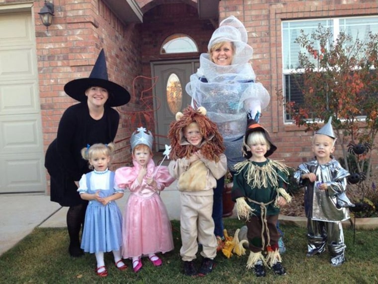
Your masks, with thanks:
M 35 2 L 39 11 L 43 1 Z M 105 51 L 109 80 L 132 93 L 132 80 L 141 74 L 141 48 L 135 24 L 123 25 L 104 3 L 93 0 L 54 1 L 54 22 L 46 28 L 35 13 L 36 49 L 40 103 L 45 148 L 55 139 L 58 124 L 67 107 L 76 103 L 63 90 L 76 78 L 88 77 L 101 48 Z M 134 127 L 125 123 L 124 113 L 135 99 L 119 107 L 121 123 L 114 162 L 130 159 L 128 137 Z M 48 177 L 49 179 L 49 177 Z

